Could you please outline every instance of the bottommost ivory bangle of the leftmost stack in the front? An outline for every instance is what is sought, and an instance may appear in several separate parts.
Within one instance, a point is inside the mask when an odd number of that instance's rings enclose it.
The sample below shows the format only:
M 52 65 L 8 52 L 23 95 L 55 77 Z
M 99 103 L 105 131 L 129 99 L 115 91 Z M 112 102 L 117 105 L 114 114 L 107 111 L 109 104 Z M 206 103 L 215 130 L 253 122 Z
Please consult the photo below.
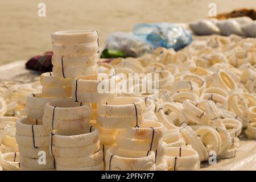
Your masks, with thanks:
M 19 156 L 19 163 L 20 166 L 28 167 L 28 168 L 33 168 L 33 169 L 53 169 L 55 168 L 55 159 L 54 158 L 46 158 L 46 164 L 39 164 L 38 163 L 39 159 L 32 159 L 32 158 L 27 158 L 25 156 L 20 155 Z

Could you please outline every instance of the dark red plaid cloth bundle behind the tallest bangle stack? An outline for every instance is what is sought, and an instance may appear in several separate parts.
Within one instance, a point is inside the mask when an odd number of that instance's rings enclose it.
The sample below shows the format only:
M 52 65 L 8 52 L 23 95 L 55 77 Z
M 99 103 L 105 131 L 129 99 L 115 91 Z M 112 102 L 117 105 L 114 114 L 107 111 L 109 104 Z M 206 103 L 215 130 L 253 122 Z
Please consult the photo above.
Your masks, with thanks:
M 43 55 L 34 56 L 27 61 L 26 68 L 35 71 L 51 72 L 53 67 L 52 55 L 52 51 L 47 51 Z

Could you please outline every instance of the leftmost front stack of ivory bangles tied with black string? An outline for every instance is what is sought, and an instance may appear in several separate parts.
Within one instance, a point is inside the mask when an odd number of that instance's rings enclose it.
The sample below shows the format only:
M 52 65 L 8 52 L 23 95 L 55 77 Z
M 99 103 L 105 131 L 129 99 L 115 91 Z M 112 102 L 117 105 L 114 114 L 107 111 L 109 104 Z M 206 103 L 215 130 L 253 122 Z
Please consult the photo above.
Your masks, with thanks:
M 41 120 L 27 117 L 20 118 L 16 122 L 16 130 L 20 166 L 34 170 L 54 169 L 55 161 L 53 156 L 49 154 L 49 133 L 51 130 L 46 129 Z M 39 163 L 41 155 L 46 162 L 45 164 Z

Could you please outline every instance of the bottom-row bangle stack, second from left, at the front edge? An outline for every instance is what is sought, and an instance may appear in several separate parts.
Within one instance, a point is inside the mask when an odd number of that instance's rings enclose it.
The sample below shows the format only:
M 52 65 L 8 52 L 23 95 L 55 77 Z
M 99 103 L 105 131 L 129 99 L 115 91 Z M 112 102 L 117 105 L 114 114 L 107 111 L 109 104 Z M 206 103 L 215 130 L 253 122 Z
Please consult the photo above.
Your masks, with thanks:
M 56 170 L 102 171 L 104 152 L 100 148 L 100 131 L 90 126 L 79 135 L 51 133 L 49 150 L 56 161 Z

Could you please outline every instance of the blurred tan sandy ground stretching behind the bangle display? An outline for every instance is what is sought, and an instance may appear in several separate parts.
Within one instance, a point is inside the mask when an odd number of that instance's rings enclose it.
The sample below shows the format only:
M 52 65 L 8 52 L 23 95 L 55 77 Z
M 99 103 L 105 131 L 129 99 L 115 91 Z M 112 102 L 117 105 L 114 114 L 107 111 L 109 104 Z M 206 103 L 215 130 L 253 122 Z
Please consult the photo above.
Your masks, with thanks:
M 46 17 L 38 4 L 46 4 Z M 94 28 L 100 47 L 113 31 L 130 31 L 136 23 L 191 22 L 208 16 L 214 2 L 217 13 L 240 7 L 256 8 L 255 0 L 68 0 L 0 1 L 0 65 L 51 50 L 51 32 Z

